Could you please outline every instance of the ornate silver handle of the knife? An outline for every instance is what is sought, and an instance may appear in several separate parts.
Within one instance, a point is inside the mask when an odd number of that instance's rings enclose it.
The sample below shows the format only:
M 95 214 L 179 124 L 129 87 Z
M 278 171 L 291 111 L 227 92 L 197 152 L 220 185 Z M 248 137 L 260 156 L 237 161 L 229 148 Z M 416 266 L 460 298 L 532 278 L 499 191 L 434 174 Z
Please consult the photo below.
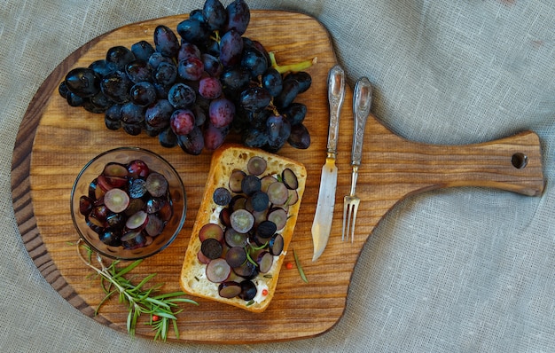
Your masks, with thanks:
M 340 111 L 345 98 L 345 71 L 339 65 L 330 69 L 328 75 L 328 102 L 330 104 L 330 126 L 328 128 L 327 154 L 335 159 L 337 137 L 340 130 Z

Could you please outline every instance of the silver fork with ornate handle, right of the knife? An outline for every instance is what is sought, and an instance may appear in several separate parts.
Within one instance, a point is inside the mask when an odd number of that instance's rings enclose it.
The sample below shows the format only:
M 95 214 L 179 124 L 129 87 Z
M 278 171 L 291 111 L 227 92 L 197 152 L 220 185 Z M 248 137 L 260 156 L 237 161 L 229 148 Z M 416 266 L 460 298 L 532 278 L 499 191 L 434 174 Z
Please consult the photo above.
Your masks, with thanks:
M 355 195 L 358 167 L 363 159 L 363 137 L 366 121 L 370 115 L 371 83 L 366 77 L 360 78 L 355 85 L 353 98 L 353 114 L 355 115 L 355 128 L 353 131 L 353 146 L 351 148 L 351 191 L 343 199 L 343 232 L 341 240 L 348 240 L 351 232 L 351 242 L 355 240 L 356 212 L 360 199 Z M 347 231 L 346 231 L 347 230 Z

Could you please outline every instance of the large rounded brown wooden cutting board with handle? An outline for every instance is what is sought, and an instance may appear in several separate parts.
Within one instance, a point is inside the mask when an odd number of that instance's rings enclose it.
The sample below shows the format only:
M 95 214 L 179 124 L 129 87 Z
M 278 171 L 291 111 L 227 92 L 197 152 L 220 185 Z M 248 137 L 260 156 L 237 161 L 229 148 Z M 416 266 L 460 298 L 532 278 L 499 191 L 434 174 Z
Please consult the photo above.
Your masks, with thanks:
M 173 16 L 121 27 L 102 35 L 75 51 L 43 83 L 20 125 L 12 160 L 12 199 L 25 247 L 43 277 L 59 294 L 101 324 L 125 331 L 127 310 L 116 300 L 107 302 L 93 315 L 103 298 L 91 271 L 76 255 L 70 242 L 77 240 L 70 212 L 69 195 L 82 166 L 98 153 L 123 145 L 142 146 L 170 161 L 184 180 L 188 210 L 184 229 L 160 255 L 146 259 L 137 275 L 158 273 L 154 282 L 164 282 L 165 292 L 179 290 L 178 275 L 192 224 L 206 181 L 210 153 L 185 154 L 178 147 L 163 148 L 152 137 L 131 137 L 110 131 L 103 115 L 72 108 L 59 97 L 58 85 L 72 67 L 86 67 L 102 59 L 114 45 L 139 40 L 152 43 L 153 29 L 164 24 L 176 28 L 186 16 Z M 91 24 L 94 25 L 94 24 Z M 309 68 L 311 89 L 298 101 L 309 106 L 307 126 L 312 144 L 306 151 L 283 148 L 279 154 L 305 164 L 308 180 L 301 214 L 291 247 L 300 258 L 309 283 L 296 269 L 281 271 L 277 294 L 262 314 L 249 313 L 224 304 L 199 300 L 199 306 L 184 305 L 179 314 L 180 340 L 218 343 L 284 341 L 324 333 L 343 315 L 348 286 L 363 244 L 379 220 L 395 203 L 410 194 L 450 186 L 495 187 L 526 195 L 543 192 L 540 142 L 533 132 L 522 132 L 479 145 L 423 145 L 395 136 L 373 116 L 366 125 L 363 166 L 357 193 L 361 206 L 354 244 L 341 242 L 343 195 L 350 186 L 352 139 L 352 90 L 348 90 L 340 121 L 339 180 L 332 235 L 316 263 L 312 259 L 310 228 L 317 203 L 320 170 L 324 164 L 328 105 L 326 77 L 336 64 L 332 42 L 317 20 L 293 12 L 253 11 L 246 33 L 259 40 L 277 61 L 289 64 L 317 57 Z M 524 168 L 520 163 L 526 159 Z M 515 167 L 516 165 L 516 167 Z M 293 252 L 285 263 L 293 262 Z M 148 326 L 137 325 L 137 334 L 152 337 Z M 173 333 L 170 333 L 175 339 Z

